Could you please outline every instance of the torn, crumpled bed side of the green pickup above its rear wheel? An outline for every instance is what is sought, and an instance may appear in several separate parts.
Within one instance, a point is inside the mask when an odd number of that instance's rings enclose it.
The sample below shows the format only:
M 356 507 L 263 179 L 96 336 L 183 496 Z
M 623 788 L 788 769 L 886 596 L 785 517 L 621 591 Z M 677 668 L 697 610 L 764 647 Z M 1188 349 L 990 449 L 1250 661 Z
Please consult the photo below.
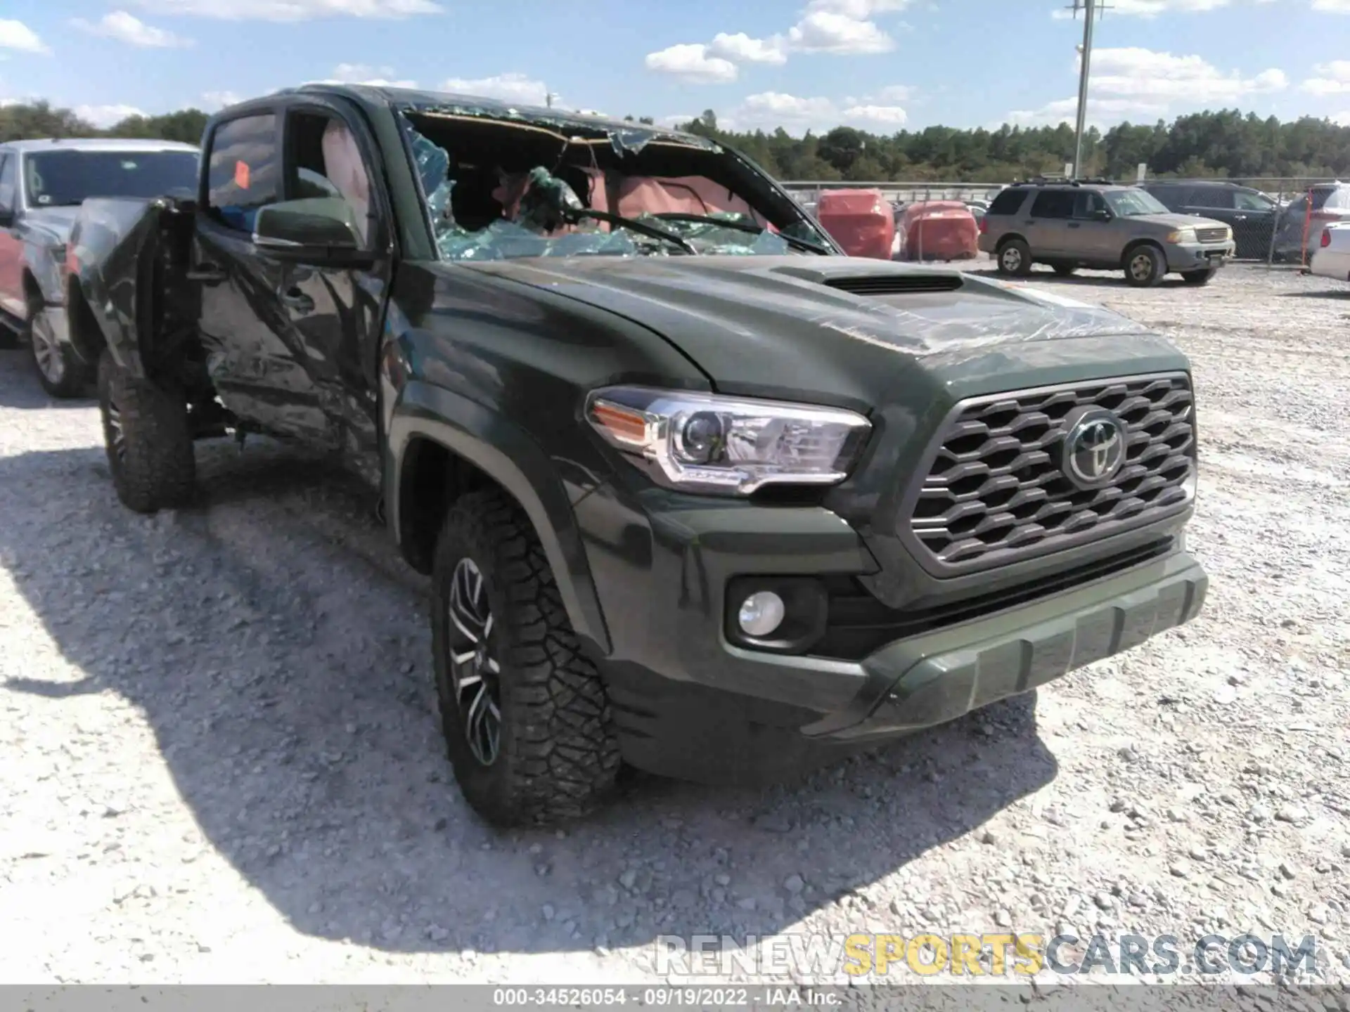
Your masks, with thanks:
M 86 200 L 66 252 L 73 304 L 86 325 L 72 340 L 89 362 L 105 345 L 134 375 L 162 363 L 192 363 L 184 344 L 196 344 L 197 286 L 188 277 L 190 205 L 171 198 Z M 93 327 L 88 324 L 92 322 Z M 178 352 L 178 354 L 174 354 Z M 180 376 L 190 381 L 190 376 Z

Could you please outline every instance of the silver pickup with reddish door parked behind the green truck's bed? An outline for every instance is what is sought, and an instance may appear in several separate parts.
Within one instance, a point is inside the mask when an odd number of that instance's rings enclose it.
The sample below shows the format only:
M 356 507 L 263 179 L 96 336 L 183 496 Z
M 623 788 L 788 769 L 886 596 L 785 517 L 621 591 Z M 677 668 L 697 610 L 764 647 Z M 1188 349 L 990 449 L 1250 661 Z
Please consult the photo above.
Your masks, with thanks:
M 32 349 L 38 381 L 76 397 L 93 378 L 68 337 L 66 239 L 86 197 L 157 197 L 197 185 L 197 148 L 173 140 L 15 140 L 0 144 L 0 335 Z

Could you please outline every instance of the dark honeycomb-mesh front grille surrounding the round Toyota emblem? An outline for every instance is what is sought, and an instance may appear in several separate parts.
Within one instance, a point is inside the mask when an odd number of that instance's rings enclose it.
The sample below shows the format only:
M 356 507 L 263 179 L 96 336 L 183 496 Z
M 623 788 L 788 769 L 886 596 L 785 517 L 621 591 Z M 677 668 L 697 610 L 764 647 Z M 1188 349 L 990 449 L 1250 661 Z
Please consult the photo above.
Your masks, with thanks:
M 1066 416 L 1114 413 L 1125 461 L 1080 488 L 1061 466 Z M 1193 495 L 1195 421 L 1184 372 L 994 394 L 948 416 L 900 532 L 925 565 L 959 575 L 1007 565 L 1162 519 Z

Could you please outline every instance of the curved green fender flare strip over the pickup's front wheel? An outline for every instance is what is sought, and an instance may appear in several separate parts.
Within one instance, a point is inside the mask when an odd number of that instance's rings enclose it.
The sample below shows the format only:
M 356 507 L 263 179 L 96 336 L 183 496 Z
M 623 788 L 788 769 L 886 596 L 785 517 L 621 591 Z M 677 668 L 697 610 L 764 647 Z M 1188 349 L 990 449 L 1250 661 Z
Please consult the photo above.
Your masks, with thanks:
M 580 529 L 558 467 L 543 448 L 501 414 L 421 381 L 402 387 L 387 417 L 385 501 L 396 540 L 402 542 L 398 497 L 408 445 L 424 437 L 467 460 L 514 497 L 544 546 L 572 629 L 601 653 L 610 653 Z

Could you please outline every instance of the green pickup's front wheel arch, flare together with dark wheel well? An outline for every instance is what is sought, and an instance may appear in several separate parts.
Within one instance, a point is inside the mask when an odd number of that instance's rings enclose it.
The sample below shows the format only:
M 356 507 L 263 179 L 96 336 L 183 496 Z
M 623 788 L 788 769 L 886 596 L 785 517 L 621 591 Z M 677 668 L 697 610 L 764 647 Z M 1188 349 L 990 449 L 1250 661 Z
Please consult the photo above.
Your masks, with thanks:
M 431 572 L 450 505 L 497 486 L 529 518 L 572 629 L 602 654 L 610 652 L 575 513 L 554 461 L 528 432 L 463 395 L 413 381 L 390 412 L 386 439 L 385 502 L 409 565 Z

